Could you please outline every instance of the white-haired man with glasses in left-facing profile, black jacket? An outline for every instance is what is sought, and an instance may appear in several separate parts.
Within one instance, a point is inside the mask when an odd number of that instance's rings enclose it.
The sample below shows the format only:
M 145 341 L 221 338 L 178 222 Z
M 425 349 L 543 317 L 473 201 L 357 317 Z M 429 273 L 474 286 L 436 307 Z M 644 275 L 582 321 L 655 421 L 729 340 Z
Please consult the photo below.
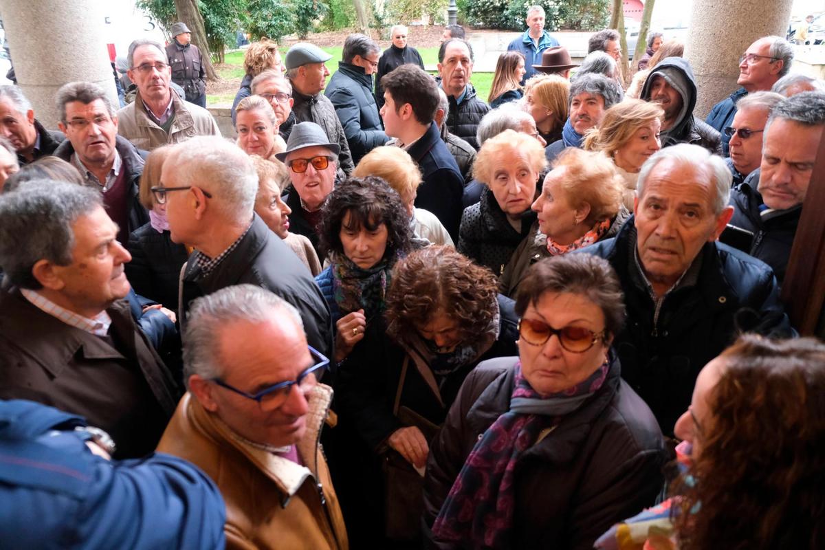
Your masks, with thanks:
M 192 300 L 233 284 L 256 284 L 293 304 L 309 343 L 328 354 L 332 325 L 321 291 L 298 256 L 254 214 L 252 159 L 224 139 L 201 136 L 172 149 L 161 181 L 152 191 L 166 204 L 172 241 L 195 249 L 181 281 L 181 326 Z

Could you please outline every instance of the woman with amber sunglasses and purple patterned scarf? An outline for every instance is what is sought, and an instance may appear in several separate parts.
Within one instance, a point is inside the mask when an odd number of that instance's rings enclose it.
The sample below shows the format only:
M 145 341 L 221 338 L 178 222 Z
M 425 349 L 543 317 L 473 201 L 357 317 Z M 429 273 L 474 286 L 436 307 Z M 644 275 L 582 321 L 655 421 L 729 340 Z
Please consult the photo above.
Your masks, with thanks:
M 434 547 L 592 548 L 662 487 L 662 433 L 610 348 L 625 316 L 610 265 L 540 261 L 516 313 L 519 356 L 479 364 L 432 442 Z

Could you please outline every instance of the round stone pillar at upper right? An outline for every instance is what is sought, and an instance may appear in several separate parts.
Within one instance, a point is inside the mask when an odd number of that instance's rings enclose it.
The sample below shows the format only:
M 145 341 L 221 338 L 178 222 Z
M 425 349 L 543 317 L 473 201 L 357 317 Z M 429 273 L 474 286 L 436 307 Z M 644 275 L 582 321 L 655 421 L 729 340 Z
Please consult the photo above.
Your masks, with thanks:
M 699 89 L 701 119 L 737 90 L 739 56 L 760 36 L 785 36 L 793 0 L 693 0 L 686 58 Z

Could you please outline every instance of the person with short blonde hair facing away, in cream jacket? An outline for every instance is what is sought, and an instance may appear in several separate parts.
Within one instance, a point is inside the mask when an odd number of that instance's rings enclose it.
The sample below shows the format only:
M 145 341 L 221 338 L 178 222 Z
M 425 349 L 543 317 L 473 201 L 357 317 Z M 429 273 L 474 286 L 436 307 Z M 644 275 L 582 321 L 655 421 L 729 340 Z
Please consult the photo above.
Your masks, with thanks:
M 450 233 L 436 218 L 436 214 L 415 207 L 418 186 L 421 185 L 421 171 L 409 153 L 398 147 L 376 147 L 366 153 L 354 172 L 353 177 L 380 177 L 401 196 L 407 210 L 415 237 L 432 244 L 454 246 Z

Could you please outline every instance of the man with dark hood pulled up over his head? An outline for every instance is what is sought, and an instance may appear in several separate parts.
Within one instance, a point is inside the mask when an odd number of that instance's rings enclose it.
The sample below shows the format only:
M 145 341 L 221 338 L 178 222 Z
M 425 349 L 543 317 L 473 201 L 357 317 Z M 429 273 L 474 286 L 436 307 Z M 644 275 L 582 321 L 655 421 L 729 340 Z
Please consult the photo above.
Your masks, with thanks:
M 662 122 L 662 147 L 676 143 L 695 143 L 710 153 L 722 154 L 719 132 L 693 116 L 696 106 L 696 80 L 691 63 L 681 57 L 662 60 L 644 81 L 644 101 L 656 101 L 665 110 Z

